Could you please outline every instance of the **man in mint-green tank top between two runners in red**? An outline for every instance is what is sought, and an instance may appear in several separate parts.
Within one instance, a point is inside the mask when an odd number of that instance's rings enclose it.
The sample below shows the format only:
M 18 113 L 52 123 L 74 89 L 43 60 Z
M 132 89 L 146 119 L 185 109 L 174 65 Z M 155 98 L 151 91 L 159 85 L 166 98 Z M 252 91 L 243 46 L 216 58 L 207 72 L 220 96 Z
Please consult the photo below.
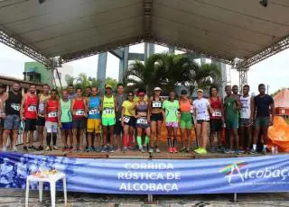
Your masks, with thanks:
M 58 121 L 61 128 L 63 150 L 72 149 L 73 146 L 71 101 L 68 99 L 68 96 L 68 91 L 62 90 L 62 99 L 58 106 Z

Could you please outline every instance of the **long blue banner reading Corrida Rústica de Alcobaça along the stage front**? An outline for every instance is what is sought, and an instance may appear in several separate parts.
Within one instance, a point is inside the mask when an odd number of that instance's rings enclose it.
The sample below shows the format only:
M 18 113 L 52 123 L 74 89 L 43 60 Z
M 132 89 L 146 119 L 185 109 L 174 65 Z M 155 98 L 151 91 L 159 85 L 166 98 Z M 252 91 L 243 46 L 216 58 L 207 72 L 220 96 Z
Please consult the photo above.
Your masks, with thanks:
M 260 193 L 289 190 L 289 155 L 213 159 L 92 159 L 0 153 L 0 186 L 55 168 L 68 190 L 89 193 Z M 61 182 L 58 184 L 61 188 Z M 37 189 L 37 184 L 31 184 Z M 44 185 L 44 189 L 49 185 Z

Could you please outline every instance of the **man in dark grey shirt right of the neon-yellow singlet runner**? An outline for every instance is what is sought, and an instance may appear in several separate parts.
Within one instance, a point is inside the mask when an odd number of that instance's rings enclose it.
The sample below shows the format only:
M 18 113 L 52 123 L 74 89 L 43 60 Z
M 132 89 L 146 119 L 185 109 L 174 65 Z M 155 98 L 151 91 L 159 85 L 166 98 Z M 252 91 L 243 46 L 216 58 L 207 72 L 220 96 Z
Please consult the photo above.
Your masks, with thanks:
M 123 103 L 126 100 L 127 95 L 124 94 L 124 85 L 123 84 L 117 84 L 117 114 L 116 114 L 116 126 L 115 126 L 115 134 L 117 137 L 117 151 L 121 150 L 121 140 L 120 135 L 121 133 L 124 133 L 124 128 L 121 124 L 121 112 L 123 110 Z M 124 134 L 123 134 L 124 135 Z

